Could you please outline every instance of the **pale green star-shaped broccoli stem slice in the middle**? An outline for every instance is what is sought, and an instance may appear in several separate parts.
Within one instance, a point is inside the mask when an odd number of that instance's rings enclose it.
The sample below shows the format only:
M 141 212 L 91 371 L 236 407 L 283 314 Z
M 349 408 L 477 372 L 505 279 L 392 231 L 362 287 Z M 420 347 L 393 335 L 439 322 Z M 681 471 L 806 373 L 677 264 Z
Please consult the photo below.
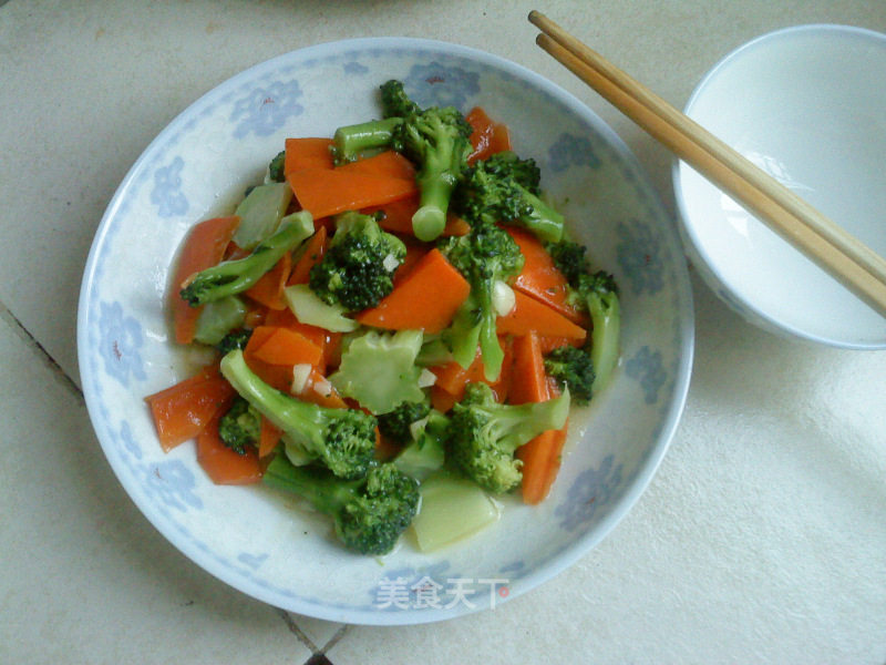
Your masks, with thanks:
M 421 330 L 367 330 L 342 344 L 341 364 L 329 381 L 342 396 L 373 413 L 388 413 L 408 401 L 421 401 L 421 368 L 415 357 Z

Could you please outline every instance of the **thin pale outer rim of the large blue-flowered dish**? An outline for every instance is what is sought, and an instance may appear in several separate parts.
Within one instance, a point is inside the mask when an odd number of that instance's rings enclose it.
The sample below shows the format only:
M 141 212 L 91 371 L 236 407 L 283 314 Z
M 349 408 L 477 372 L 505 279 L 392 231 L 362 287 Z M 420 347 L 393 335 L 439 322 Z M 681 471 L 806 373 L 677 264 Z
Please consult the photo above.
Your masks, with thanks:
M 279 64 L 287 62 L 288 59 L 291 59 L 296 53 L 299 54 L 300 58 L 308 59 L 311 57 L 319 58 L 330 53 L 347 51 L 349 49 L 357 49 L 357 48 L 365 49 L 368 47 L 388 48 L 388 49 L 406 48 L 415 50 L 432 49 L 441 53 L 462 55 L 475 60 L 477 62 L 484 63 L 486 65 L 499 69 L 506 73 L 513 74 L 517 79 L 522 79 L 528 84 L 544 91 L 558 102 L 565 104 L 567 108 L 578 113 L 584 121 L 591 124 L 595 131 L 600 133 L 600 135 L 605 139 L 605 141 L 607 141 L 611 146 L 611 149 L 617 153 L 618 157 L 620 160 L 624 160 L 627 164 L 630 165 L 631 168 L 633 168 L 641 175 L 641 181 L 642 181 L 641 184 L 648 191 L 650 200 L 652 201 L 653 206 L 660 214 L 661 219 L 663 222 L 672 222 L 671 215 L 669 215 L 667 208 L 662 204 L 659 193 L 651 185 L 651 182 L 647 176 L 646 170 L 640 165 L 637 157 L 633 155 L 633 153 L 630 151 L 627 144 L 621 140 L 621 137 L 618 134 L 616 134 L 616 132 L 609 125 L 607 125 L 589 106 L 579 101 L 575 95 L 562 89 L 553 81 L 549 81 L 548 79 L 529 70 L 528 68 L 522 64 L 515 63 L 501 55 L 496 55 L 486 51 L 482 51 L 480 49 L 474 49 L 462 44 L 456 44 L 442 40 L 431 40 L 431 39 L 409 38 L 409 37 L 373 37 L 373 38 L 344 39 L 344 40 L 321 42 L 309 47 L 295 49 L 292 51 L 281 53 L 274 58 L 257 62 L 248 68 L 245 68 L 238 73 L 227 79 L 224 79 L 217 84 L 214 84 L 209 90 L 200 94 L 197 99 L 190 102 L 184 110 L 182 110 L 173 120 L 171 120 L 157 133 L 157 135 L 144 147 L 140 156 L 130 167 L 124 178 L 117 185 L 117 188 L 115 190 L 114 195 L 112 196 L 107 207 L 105 208 L 105 212 L 102 216 L 99 227 L 96 228 L 96 232 L 94 234 L 81 282 L 80 297 L 78 303 L 76 347 L 78 347 L 79 371 L 83 377 L 83 379 L 86 379 L 89 376 L 93 374 L 90 364 L 87 361 L 89 352 L 91 352 L 90 351 L 91 345 L 89 340 L 89 330 L 85 324 L 87 319 L 86 313 L 90 307 L 90 294 L 93 289 L 94 277 L 97 267 L 96 264 L 99 259 L 99 247 L 105 242 L 105 236 L 109 233 L 111 222 L 117 214 L 121 203 L 125 197 L 125 193 L 130 188 L 134 177 L 141 171 L 145 161 L 148 158 L 148 155 L 151 155 L 153 150 L 157 145 L 166 141 L 169 135 L 174 134 L 187 121 L 193 110 L 203 104 L 207 100 L 207 98 L 216 94 L 219 88 L 223 86 L 228 88 L 237 85 L 244 80 L 256 75 L 264 69 L 274 69 L 275 66 L 278 66 Z M 672 248 L 674 250 L 674 256 L 677 256 L 678 258 L 682 258 L 683 256 L 682 247 L 680 245 L 676 227 L 671 238 L 672 238 Z M 680 361 L 674 372 L 673 393 L 671 402 L 668 406 L 668 408 L 663 411 L 660 427 L 657 437 L 655 438 L 655 446 L 650 449 L 649 454 L 646 457 L 643 462 L 639 464 L 635 481 L 627 488 L 624 495 L 620 497 L 618 501 L 614 503 L 610 512 L 600 520 L 597 528 L 595 528 L 591 532 L 585 534 L 584 536 L 573 541 L 557 556 L 554 556 L 547 562 L 540 564 L 533 573 L 526 575 L 525 577 L 522 577 L 519 581 L 519 589 L 514 590 L 512 587 L 511 589 L 512 593 L 508 594 L 508 596 L 503 598 L 501 602 L 496 603 L 496 605 L 503 604 L 504 602 L 507 602 L 508 600 L 512 600 L 513 597 L 516 597 L 522 593 L 525 593 L 526 591 L 529 591 L 538 586 L 543 582 L 550 580 L 556 574 L 571 566 L 583 555 L 587 554 L 606 535 L 608 535 L 612 531 L 615 525 L 630 511 L 630 509 L 637 502 L 639 497 L 646 491 L 659 464 L 661 463 L 661 460 L 663 459 L 673 439 L 673 434 L 677 430 L 677 427 L 679 424 L 680 418 L 683 412 L 683 408 L 686 406 L 691 370 L 692 370 L 693 352 L 694 352 L 694 309 L 693 309 L 691 282 L 689 279 L 689 272 L 686 263 L 683 260 L 678 260 L 678 264 L 679 265 L 676 265 L 674 268 L 678 274 L 679 282 L 683 286 L 683 288 L 678 289 L 678 291 L 680 291 L 678 294 L 679 307 L 676 311 L 676 319 L 677 319 L 676 327 L 679 330 L 681 340 L 681 344 L 679 345 L 678 348 Z M 83 393 L 84 393 L 84 400 L 86 402 L 86 409 L 90 419 L 93 423 L 93 431 L 95 432 L 96 438 L 99 439 L 99 442 L 102 446 L 104 452 L 105 442 L 99 436 L 100 431 L 102 431 L 103 429 L 103 427 L 100 423 L 103 422 L 104 420 L 104 417 L 101 413 L 100 398 L 96 393 L 93 392 L 93 386 L 94 386 L 93 381 L 82 380 L 81 382 L 83 385 Z M 114 471 L 121 484 L 123 484 L 124 490 L 126 491 L 130 500 L 132 500 L 137 505 L 142 514 L 148 520 L 148 522 L 151 522 L 154 525 L 154 528 L 164 536 L 164 539 L 169 541 L 169 543 L 173 546 L 175 546 L 186 557 L 188 557 L 192 562 L 194 562 L 198 567 L 208 572 L 218 580 L 225 582 L 229 586 L 237 589 L 241 593 L 250 597 L 257 598 L 261 602 L 265 602 L 267 604 L 270 604 L 272 606 L 284 607 L 288 611 L 300 613 L 307 616 L 313 616 L 317 618 L 337 621 L 350 624 L 359 624 L 359 625 L 411 625 L 421 623 L 432 623 L 436 621 L 453 618 L 455 616 L 464 616 L 473 612 L 485 608 L 484 606 L 478 605 L 476 608 L 471 608 L 465 611 L 456 610 L 455 612 L 450 612 L 450 611 L 431 612 L 427 610 L 415 610 L 415 608 L 403 610 L 401 612 L 365 612 L 361 610 L 351 610 L 351 608 L 342 610 L 337 607 L 328 607 L 320 605 L 318 603 L 307 603 L 303 602 L 302 598 L 298 598 L 295 603 L 290 602 L 287 605 L 281 605 L 280 604 L 281 598 L 278 595 L 276 595 L 275 592 L 267 591 L 262 589 L 260 585 L 250 586 L 247 580 L 233 575 L 229 571 L 224 569 L 224 566 L 217 564 L 210 556 L 203 555 L 200 552 L 196 551 L 195 548 L 190 543 L 188 543 L 186 539 L 183 535 L 181 535 L 177 531 L 164 529 L 159 523 L 161 522 L 159 515 L 156 514 L 155 511 L 150 505 L 147 505 L 147 501 L 144 498 L 142 498 L 138 492 L 130 491 L 130 487 L 127 487 L 130 483 L 126 480 L 127 473 L 126 470 L 123 468 L 122 462 L 119 459 L 116 459 L 115 456 L 109 456 L 106 452 L 105 452 L 105 459 L 109 460 L 112 470 Z

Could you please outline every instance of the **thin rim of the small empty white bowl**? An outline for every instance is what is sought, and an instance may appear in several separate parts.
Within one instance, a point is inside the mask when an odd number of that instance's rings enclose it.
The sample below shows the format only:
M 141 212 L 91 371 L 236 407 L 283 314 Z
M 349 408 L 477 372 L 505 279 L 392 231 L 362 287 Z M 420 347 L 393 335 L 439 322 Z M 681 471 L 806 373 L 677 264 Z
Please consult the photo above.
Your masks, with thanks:
M 743 44 L 740 44 L 739 47 L 735 47 L 734 49 L 729 51 L 725 55 L 720 58 L 713 64 L 713 66 L 711 66 L 711 69 L 708 70 L 708 72 L 702 76 L 702 79 L 698 82 L 698 84 L 693 88 L 692 93 L 689 95 L 689 99 L 683 106 L 683 113 L 691 117 L 692 108 L 696 105 L 696 103 L 698 103 L 699 98 L 702 96 L 702 94 L 704 93 L 705 89 L 711 83 L 711 81 L 715 76 L 718 76 L 722 72 L 722 70 L 729 66 L 732 62 L 734 62 L 743 54 L 745 54 L 745 52 L 760 48 L 761 45 L 765 45 L 770 41 L 800 33 L 845 34 L 852 37 L 876 39 L 878 41 L 883 41 L 884 43 L 886 43 L 886 34 L 882 32 L 878 32 L 876 30 L 870 30 L 868 28 L 861 28 L 857 25 L 848 25 L 842 23 L 804 23 L 800 25 L 789 25 L 786 28 L 779 28 L 776 30 L 765 32 L 744 42 Z M 680 232 L 686 238 L 686 242 L 688 243 L 689 248 L 692 250 L 694 256 L 697 256 L 701 262 L 703 262 L 705 270 L 709 272 L 718 280 L 719 285 L 722 285 L 721 288 L 728 289 L 729 297 L 738 301 L 741 305 L 741 307 L 744 308 L 746 311 L 751 313 L 751 317 L 749 318 L 751 318 L 754 323 L 756 321 L 762 323 L 764 327 L 770 327 L 772 330 L 776 330 L 782 334 L 787 334 L 789 336 L 793 336 L 808 342 L 823 344 L 834 348 L 849 349 L 849 350 L 886 349 L 886 338 L 884 338 L 882 341 L 853 341 L 839 338 L 838 336 L 826 336 L 826 335 L 816 335 L 813 332 L 808 332 L 796 325 L 776 318 L 774 315 L 770 314 L 765 309 L 762 309 L 760 306 L 755 305 L 752 300 L 744 297 L 742 294 L 738 293 L 733 288 L 731 282 L 727 279 L 720 272 L 720 269 L 717 267 L 711 256 L 702 249 L 702 244 L 696 231 L 696 225 L 690 223 L 691 216 L 689 215 L 688 211 L 688 203 L 682 186 L 682 175 L 681 175 L 681 166 L 684 164 L 686 162 L 683 162 L 679 157 L 674 157 L 671 164 L 671 182 L 673 186 L 674 203 L 677 205 L 677 215 L 679 217 L 679 223 L 680 223 Z M 704 277 L 705 282 L 709 280 L 708 276 L 705 276 L 703 273 L 702 276 Z M 719 288 L 713 288 L 713 290 L 717 293 L 718 297 L 724 299 Z M 727 304 L 730 307 L 734 308 L 734 304 L 729 303 L 728 300 Z

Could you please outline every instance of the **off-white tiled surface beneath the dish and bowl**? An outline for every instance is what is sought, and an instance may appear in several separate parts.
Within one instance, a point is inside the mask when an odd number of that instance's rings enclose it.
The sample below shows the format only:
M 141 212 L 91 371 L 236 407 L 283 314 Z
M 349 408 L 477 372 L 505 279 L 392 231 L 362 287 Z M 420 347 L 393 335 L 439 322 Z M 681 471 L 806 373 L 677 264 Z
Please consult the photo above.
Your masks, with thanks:
M 367 34 L 484 48 L 586 100 L 671 201 L 669 155 L 532 47 L 530 4 L 367 4 L 0 0 L 0 663 L 886 662 L 886 352 L 767 336 L 699 282 L 689 402 L 649 490 L 577 565 L 493 612 L 402 628 L 291 615 L 135 509 L 78 389 L 80 278 L 132 162 L 240 69 Z M 886 31 L 861 0 L 543 9 L 678 104 L 766 30 Z

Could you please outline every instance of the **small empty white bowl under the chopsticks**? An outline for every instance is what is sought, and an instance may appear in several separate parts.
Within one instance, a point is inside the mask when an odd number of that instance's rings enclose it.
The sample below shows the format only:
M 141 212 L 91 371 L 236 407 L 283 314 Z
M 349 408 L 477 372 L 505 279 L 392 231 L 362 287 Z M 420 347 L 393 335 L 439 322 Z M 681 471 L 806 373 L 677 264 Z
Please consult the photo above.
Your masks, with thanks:
M 844 25 L 764 34 L 721 60 L 686 113 L 886 255 L 886 35 Z M 886 319 L 683 162 L 686 245 L 748 320 L 844 348 L 886 348 Z

